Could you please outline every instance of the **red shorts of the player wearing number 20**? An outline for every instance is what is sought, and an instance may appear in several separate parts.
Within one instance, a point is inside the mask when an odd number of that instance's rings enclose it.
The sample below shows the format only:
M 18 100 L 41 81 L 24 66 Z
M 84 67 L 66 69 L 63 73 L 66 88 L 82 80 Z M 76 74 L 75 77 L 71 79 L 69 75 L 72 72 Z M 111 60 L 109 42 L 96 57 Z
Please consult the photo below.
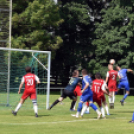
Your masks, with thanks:
M 37 98 L 36 91 L 34 91 L 34 92 L 26 92 L 26 91 L 24 91 L 24 93 L 21 96 L 21 98 L 23 100 L 26 100 L 28 97 L 30 97 L 31 100 L 35 100 Z

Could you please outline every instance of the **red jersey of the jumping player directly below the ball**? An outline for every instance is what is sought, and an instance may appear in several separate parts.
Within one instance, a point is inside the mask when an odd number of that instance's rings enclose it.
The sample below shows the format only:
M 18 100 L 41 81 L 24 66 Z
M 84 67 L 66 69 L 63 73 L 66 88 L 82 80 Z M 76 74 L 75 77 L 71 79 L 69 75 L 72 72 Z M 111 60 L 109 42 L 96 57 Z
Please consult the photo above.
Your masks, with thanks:
M 107 72 L 108 83 L 116 83 L 118 72 L 115 70 L 111 70 Z

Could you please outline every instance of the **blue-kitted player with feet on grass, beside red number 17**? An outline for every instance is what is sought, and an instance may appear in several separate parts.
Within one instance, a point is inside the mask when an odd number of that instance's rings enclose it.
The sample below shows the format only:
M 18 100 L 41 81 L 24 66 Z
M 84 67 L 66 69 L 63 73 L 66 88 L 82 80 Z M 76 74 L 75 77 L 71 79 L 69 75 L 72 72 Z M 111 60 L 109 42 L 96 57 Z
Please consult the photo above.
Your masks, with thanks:
M 80 102 L 78 104 L 77 113 L 75 116 L 76 118 L 79 117 L 80 112 L 82 110 L 82 105 L 84 102 L 89 102 L 89 106 L 92 107 L 96 113 L 98 114 L 98 119 L 101 117 L 101 112 L 98 110 L 95 104 L 93 104 L 93 92 L 90 88 L 92 79 L 88 76 L 87 70 L 82 70 L 83 80 L 82 80 L 82 96 L 80 97 Z

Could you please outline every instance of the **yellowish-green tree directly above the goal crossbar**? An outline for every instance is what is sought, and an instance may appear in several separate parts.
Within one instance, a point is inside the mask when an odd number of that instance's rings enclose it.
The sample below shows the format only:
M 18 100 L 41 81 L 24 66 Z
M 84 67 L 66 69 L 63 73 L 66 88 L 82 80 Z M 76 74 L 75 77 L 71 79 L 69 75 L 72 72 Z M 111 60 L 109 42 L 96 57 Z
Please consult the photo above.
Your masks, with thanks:
M 14 0 L 13 11 L 12 47 L 51 50 L 54 54 L 62 43 L 55 34 L 63 22 L 58 5 L 50 0 Z

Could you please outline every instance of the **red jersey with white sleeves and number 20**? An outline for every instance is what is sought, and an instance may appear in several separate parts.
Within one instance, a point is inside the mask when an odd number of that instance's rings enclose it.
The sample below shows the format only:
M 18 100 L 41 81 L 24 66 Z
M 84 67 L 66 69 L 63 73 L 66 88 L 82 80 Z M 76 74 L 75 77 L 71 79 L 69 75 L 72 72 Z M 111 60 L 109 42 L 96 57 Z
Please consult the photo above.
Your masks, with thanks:
M 25 83 L 25 91 L 36 91 L 36 81 L 39 81 L 39 78 L 32 73 L 27 73 L 21 80 L 22 83 Z

